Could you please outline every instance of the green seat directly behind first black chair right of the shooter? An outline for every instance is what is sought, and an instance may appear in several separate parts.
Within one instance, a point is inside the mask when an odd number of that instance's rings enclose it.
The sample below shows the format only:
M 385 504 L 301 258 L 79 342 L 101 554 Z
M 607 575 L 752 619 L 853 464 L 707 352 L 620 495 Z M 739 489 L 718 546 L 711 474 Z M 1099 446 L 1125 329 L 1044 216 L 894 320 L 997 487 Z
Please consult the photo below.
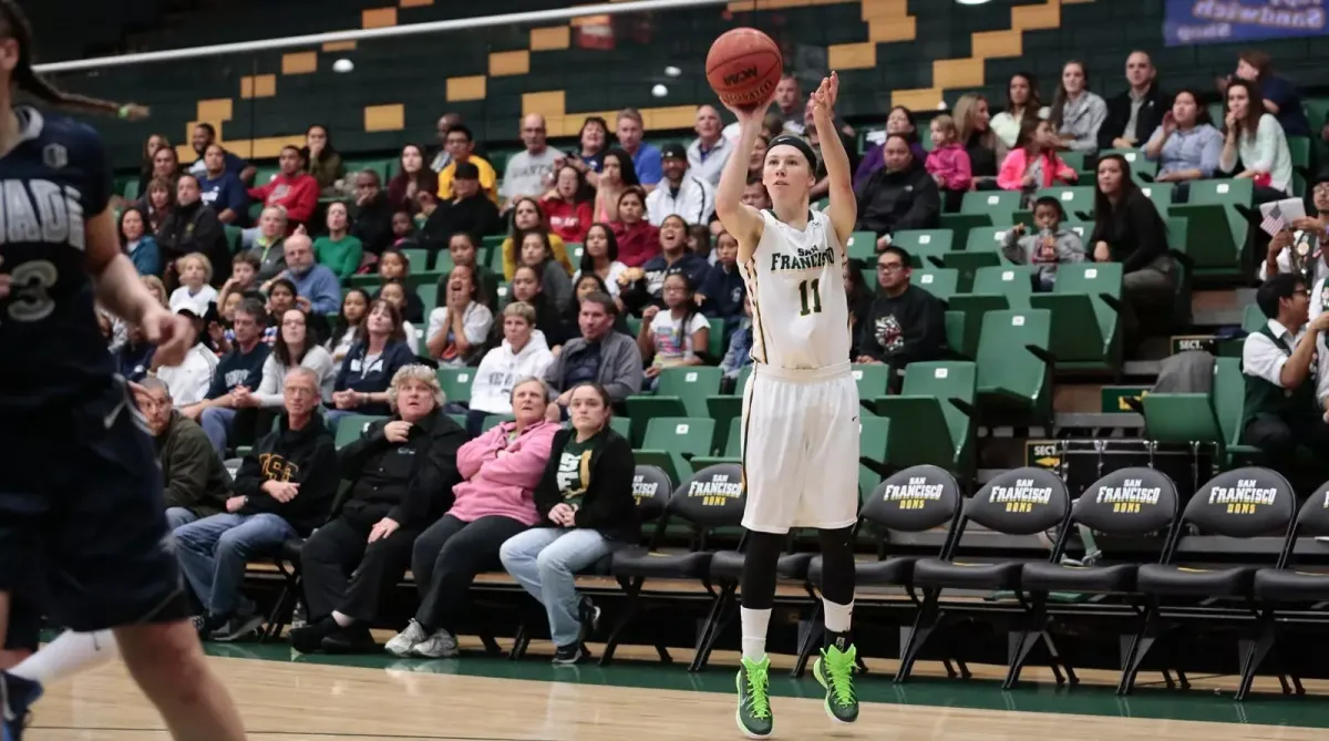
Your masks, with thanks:
M 973 467 L 977 373 L 973 363 L 912 363 L 900 394 L 873 401 L 877 414 L 894 422 L 886 467 Z

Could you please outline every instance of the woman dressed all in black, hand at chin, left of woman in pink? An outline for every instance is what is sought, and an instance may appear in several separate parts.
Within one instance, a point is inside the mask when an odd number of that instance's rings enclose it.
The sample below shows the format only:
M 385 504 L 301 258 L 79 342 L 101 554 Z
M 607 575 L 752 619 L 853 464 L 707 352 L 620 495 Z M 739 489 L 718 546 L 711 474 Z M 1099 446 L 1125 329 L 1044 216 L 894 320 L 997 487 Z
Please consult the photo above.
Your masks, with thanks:
M 342 511 L 300 552 L 310 623 L 291 631 L 302 653 L 363 653 L 384 595 L 411 566 L 415 539 L 452 501 L 461 481 L 457 450 L 466 432 L 443 413 L 433 369 L 405 365 L 392 376 L 395 414 L 369 425 L 338 453 L 352 482 Z

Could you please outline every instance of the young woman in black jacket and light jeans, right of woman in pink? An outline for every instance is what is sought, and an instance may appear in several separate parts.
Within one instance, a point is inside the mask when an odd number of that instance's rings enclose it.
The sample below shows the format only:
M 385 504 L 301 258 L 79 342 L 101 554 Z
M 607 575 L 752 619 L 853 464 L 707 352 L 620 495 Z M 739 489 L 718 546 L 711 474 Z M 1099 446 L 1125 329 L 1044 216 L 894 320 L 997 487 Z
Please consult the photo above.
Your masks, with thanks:
M 582 384 L 573 389 L 569 412 L 573 429 L 554 436 L 536 487 L 541 526 L 509 538 L 498 551 L 508 574 L 545 606 L 554 664 L 586 659 L 582 641 L 599 619 L 599 608 L 577 595 L 577 572 L 642 536 L 633 446 L 609 426 L 609 393 Z

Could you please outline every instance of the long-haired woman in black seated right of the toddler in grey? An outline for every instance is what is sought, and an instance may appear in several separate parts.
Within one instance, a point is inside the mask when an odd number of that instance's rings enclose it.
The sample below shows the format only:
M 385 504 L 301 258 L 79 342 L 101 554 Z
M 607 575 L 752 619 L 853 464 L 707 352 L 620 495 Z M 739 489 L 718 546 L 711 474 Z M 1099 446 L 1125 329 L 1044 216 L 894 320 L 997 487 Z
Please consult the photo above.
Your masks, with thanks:
M 1167 224 L 1150 197 L 1131 179 L 1120 154 L 1098 161 L 1094 193 L 1094 262 L 1122 263 L 1122 297 L 1127 304 L 1127 343 L 1139 336 L 1146 316 L 1172 316 L 1176 274 L 1167 247 Z

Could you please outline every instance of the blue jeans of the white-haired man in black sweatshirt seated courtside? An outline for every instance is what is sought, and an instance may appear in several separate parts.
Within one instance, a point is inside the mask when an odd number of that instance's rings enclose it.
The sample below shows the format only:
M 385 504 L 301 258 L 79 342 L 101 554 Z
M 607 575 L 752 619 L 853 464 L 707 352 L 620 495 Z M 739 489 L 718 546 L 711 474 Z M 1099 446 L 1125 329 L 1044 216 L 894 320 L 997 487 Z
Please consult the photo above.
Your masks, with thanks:
M 177 530 L 175 555 L 207 612 L 231 616 L 253 611 L 241 595 L 245 564 L 254 556 L 279 552 L 282 543 L 295 535 L 295 529 L 275 514 L 217 514 Z

